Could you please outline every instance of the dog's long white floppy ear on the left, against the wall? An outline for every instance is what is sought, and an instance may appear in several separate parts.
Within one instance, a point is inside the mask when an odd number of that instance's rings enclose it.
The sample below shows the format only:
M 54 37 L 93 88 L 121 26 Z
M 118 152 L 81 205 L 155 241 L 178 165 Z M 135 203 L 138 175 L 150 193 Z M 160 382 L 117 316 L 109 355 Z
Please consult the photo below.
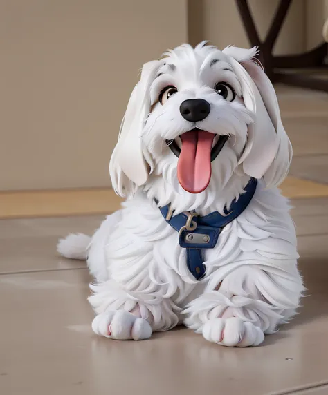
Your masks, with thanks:
M 152 160 L 141 139 L 145 119 L 150 112 L 149 87 L 154 80 L 159 61 L 143 65 L 140 81 L 131 93 L 122 119 L 118 143 L 109 163 L 113 189 L 121 196 L 134 193 L 145 184 L 152 168 Z M 147 157 L 147 161 L 146 161 Z

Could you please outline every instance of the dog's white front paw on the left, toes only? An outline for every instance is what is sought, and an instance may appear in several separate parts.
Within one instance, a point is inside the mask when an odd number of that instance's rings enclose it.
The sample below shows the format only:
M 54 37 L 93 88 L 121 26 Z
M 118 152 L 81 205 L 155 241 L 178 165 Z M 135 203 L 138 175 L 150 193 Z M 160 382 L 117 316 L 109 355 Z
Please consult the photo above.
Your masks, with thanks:
M 149 322 L 124 310 L 98 314 L 92 329 L 97 335 L 116 340 L 144 340 L 152 336 Z

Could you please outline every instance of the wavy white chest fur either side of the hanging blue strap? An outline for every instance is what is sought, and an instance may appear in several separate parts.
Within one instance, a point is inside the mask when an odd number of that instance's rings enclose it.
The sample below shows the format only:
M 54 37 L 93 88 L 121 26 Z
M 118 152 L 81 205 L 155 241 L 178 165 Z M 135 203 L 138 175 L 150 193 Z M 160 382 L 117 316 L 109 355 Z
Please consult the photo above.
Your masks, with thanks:
M 297 257 L 288 211 L 279 191 L 259 187 L 244 213 L 224 228 L 215 248 L 203 249 L 206 276 L 197 281 L 188 270 L 178 233 L 153 202 L 138 195 L 125 202 L 120 222 L 109 229 L 105 247 L 109 277 L 127 291 L 156 293 L 184 307 L 204 290 L 215 289 L 237 267 L 266 261 L 281 267 L 282 253 Z

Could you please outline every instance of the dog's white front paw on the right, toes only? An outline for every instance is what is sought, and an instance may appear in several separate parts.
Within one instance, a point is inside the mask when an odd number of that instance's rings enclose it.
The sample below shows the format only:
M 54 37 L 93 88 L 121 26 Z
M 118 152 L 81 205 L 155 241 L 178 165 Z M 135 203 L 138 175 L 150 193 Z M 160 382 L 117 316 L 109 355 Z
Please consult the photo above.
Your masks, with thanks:
M 254 347 L 264 340 L 259 327 L 236 317 L 209 320 L 203 326 L 203 336 L 212 343 L 228 347 Z

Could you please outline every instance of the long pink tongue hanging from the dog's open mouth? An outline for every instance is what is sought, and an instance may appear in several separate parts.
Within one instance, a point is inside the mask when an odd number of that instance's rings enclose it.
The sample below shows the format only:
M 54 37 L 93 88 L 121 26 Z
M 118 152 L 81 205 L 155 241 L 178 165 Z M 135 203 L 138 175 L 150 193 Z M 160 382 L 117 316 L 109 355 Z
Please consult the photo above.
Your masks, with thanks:
M 178 180 L 185 191 L 200 193 L 210 183 L 210 153 L 214 137 L 212 133 L 198 130 L 181 135 Z

